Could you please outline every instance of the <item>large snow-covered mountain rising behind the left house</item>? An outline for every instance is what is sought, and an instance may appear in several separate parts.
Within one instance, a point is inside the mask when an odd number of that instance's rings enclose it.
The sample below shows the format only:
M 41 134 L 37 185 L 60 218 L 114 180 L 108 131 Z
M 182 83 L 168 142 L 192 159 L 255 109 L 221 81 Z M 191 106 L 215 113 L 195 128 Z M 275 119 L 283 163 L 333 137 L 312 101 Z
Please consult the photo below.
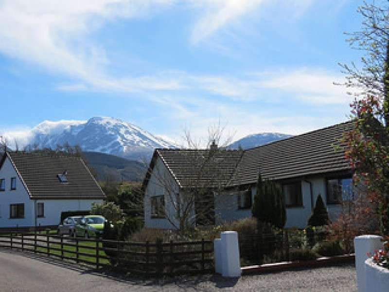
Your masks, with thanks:
M 88 121 L 44 121 L 32 130 L 30 146 L 38 148 L 69 143 L 83 151 L 101 152 L 139 160 L 154 148 L 175 148 L 171 142 L 115 118 L 93 117 Z

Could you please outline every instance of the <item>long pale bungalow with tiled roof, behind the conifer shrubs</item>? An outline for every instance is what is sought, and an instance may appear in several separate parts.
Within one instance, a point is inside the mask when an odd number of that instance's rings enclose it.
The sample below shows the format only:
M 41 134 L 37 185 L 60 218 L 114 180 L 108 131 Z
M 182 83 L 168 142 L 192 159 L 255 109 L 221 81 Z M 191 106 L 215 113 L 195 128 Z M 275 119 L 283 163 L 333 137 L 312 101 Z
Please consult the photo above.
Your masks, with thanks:
M 340 211 L 341 196 L 343 199 L 353 196 L 353 169 L 340 142 L 351 127 L 352 123 L 346 122 L 248 150 L 219 149 L 222 154 L 216 155 L 219 157 L 210 164 L 222 162 L 210 167 L 205 175 L 206 167 L 199 169 L 199 165 L 205 164 L 198 164 L 198 157 L 206 160 L 212 148 L 156 149 L 143 182 L 145 226 L 177 228 L 179 222 L 166 216 L 177 212 L 173 208 L 177 201 L 171 199 L 169 188 L 177 195 L 188 193 L 194 189 L 188 181 L 198 184 L 200 177 L 210 189 L 217 190 L 212 193 L 210 206 L 215 224 L 250 217 L 259 171 L 263 179 L 275 180 L 282 187 L 286 227 L 305 227 L 319 194 L 330 219 L 334 219 Z M 194 218 L 198 207 L 191 206 Z M 198 220 L 191 223 L 198 225 Z

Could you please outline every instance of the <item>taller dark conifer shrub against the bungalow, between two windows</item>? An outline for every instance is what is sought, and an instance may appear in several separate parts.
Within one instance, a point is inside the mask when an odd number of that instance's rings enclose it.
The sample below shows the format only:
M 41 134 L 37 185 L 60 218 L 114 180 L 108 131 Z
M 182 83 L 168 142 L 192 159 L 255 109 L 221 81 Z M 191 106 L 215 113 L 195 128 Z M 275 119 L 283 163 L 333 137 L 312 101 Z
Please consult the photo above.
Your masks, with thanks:
M 261 174 L 258 174 L 257 194 L 251 211 L 259 222 L 271 223 L 277 228 L 285 226 L 286 210 L 281 188 L 274 181 L 263 182 Z

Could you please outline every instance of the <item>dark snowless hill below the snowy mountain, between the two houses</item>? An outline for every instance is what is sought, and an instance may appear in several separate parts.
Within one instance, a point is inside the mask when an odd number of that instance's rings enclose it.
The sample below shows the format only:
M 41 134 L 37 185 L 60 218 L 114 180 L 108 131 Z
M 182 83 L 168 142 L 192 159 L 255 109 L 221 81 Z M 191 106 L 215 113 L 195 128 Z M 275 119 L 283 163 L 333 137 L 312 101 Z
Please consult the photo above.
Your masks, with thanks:
M 99 152 L 83 152 L 82 156 L 98 181 L 141 182 L 146 173 L 146 167 L 139 161 Z

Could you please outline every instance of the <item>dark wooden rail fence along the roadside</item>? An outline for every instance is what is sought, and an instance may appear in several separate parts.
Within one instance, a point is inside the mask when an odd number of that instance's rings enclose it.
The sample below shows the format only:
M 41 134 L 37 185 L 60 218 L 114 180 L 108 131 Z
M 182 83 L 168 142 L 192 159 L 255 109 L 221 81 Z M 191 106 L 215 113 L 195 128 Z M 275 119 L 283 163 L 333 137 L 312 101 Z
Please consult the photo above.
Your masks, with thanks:
M 0 233 L 0 247 L 30 251 L 97 269 L 114 268 L 143 276 L 213 273 L 213 242 L 129 242 L 53 234 Z

